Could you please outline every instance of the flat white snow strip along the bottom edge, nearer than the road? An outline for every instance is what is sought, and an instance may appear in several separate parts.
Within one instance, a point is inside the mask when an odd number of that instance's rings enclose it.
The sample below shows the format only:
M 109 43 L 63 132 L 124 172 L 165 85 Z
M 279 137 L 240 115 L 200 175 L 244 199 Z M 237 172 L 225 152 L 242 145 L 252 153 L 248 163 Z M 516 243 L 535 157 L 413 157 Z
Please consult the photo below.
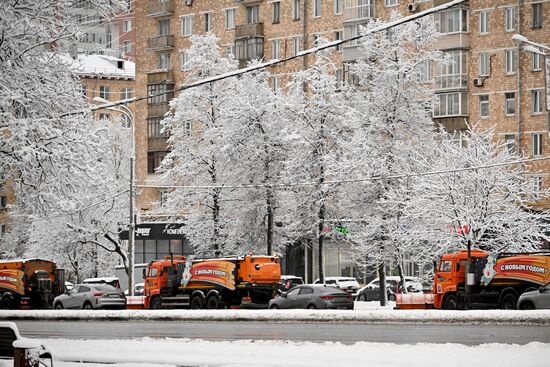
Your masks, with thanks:
M 115 366 L 384 366 L 425 367 L 445 365 L 546 367 L 550 344 L 415 344 L 311 343 L 239 340 L 214 342 L 191 339 L 66 340 L 44 341 L 58 358 L 56 367 L 76 366 L 73 361 L 118 362 Z M 65 362 L 63 362 L 63 360 Z M 99 366 L 94 363 L 87 367 Z M 104 367 L 105 365 L 101 365 Z

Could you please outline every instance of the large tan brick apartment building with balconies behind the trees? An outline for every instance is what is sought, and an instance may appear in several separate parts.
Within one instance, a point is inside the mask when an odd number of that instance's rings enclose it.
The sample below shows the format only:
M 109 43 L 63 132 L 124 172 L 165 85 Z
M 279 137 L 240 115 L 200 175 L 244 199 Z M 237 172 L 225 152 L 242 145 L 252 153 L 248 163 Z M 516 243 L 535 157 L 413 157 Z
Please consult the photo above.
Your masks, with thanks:
M 448 0 L 136 0 L 136 93 L 170 91 L 185 79 L 186 49 L 192 34 L 215 33 L 224 52 L 241 65 L 251 58 L 285 58 L 314 46 L 318 37 L 328 40 L 358 34 L 370 18 L 388 19 L 391 12 L 409 15 Z M 497 125 L 499 138 L 525 157 L 547 155 L 550 117 L 546 111 L 543 60 L 512 41 L 521 33 L 550 45 L 550 2 L 471 0 L 434 15 L 442 37 L 434 45 L 454 63 L 425 65 L 421 81 L 434 89 L 434 122 L 450 133 L 466 121 Z M 545 23 L 546 22 L 546 23 Z M 357 44 L 346 44 L 334 54 L 341 65 L 338 76 L 350 76 L 346 65 L 361 57 Z M 273 67 L 273 88 L 284 85 L 295 71 L 306 68 L 312 56 Z M 167 153 L 160 121 L 169 110 L 173 93 L 136 105 L 137 180 L 158 184 L 155 168 Z M 550 185 L 550 162 L 531 165 L 533 187 Z M 161 200 L 157 189 L 141 190 L 137 198 L 142 218 Z M 550 202 L 538 202 L 550 208 Z M 149 218 L 154 219 L 154 218 Z M 305 249 L 305 250 L 304 250 Z M 316 255 L 304 246 L 293 249 L 300 268 L 315 266 Z M 349 275 L 338 246 L 327 250 L 327 274 Z M 308 263 L 310 265 L 308 265 Z M 295 264 L 296 265 L 296 264 Z M 313 268 L 314 274 L 316 271 Z M 311 280 L 310 274 L 310 280 Z

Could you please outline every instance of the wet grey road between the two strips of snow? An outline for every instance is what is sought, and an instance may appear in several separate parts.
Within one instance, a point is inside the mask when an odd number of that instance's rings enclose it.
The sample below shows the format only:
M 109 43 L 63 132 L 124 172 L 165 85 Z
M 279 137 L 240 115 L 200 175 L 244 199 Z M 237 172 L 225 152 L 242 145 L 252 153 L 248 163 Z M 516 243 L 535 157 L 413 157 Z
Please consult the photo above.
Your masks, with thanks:
M 181 321 L 15 321 L 29 338 L 117 339 L 192 338 L 211 341 L 290 340 L 311 342 L 380 342 L 396 344 L 550 342 L 550 327 L 519 325 L 374 325 L 306 322 Z

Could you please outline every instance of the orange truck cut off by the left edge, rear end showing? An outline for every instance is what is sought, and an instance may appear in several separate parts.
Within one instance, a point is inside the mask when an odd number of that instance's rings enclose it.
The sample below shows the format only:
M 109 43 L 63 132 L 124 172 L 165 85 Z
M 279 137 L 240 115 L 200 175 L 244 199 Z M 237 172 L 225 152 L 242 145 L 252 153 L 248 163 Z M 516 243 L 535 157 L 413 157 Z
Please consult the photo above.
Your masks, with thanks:
M 64 276 L 48 260 L 0 260 L 0 308 L 51 308 L 65 290 Z

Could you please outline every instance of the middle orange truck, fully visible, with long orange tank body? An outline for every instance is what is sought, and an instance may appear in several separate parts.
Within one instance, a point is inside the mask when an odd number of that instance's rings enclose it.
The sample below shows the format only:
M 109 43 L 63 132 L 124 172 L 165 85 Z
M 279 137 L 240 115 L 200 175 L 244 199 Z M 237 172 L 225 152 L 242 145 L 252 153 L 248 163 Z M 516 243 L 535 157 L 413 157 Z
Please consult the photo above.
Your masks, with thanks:
M 281 266 L 274 256 L 172 256 L 150 262 L 144 278 L 144 308 L 263 307 L 277 291 Z

